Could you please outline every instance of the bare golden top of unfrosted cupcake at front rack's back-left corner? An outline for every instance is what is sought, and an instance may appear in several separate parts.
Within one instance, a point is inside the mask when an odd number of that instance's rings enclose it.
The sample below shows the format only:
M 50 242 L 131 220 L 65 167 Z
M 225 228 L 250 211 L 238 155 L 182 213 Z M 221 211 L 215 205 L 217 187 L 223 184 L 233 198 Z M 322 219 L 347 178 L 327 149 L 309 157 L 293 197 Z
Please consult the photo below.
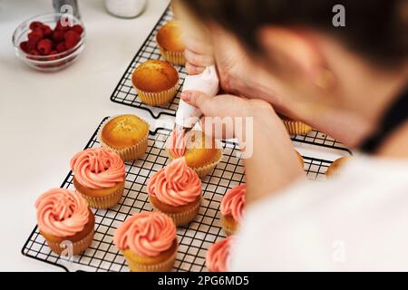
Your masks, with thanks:
M 103 127 L 101 138 L 115 149 L 133 146 L 149 134 L 149 125 L 135 115 L 121 115 L 112 118 Z

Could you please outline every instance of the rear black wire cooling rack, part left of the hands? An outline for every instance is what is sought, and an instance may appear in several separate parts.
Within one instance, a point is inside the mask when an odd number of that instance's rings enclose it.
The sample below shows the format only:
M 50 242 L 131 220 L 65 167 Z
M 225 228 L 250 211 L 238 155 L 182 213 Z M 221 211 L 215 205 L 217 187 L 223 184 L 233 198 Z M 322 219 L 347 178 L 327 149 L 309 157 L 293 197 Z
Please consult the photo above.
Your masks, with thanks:
M 161 15 L 159 22 L 154 26 L 151 34 L 149 34 L 146 41 L 141 45 L 141 49 L 136 56 L 131 61 L 131 64 L 126 69 L 125 73 L 121 77 L 121 81 L 116 86 L 115 90 L 112 93 L 111 100 L 112 102 L 121 103 L 128 105 L 134 108 L 139 108 L 145 111 L 149 111 L 151 116 L 154 119 L 159 119 L 161 115 L 176 116 L 176 110 L 179 107 L 180 102 L 180 90 L 184 79 L 187 73 L 184 70 L 183 66 L 175 65 L 174 67 L 179 72 L 180 80 L 178 84 L 178 91 L 176 97 L 169 104 L 151 107 L 141 103 L 141 100 L 138 98 L 137 92 L 134 90 L 131 83 L 131 75 L 136 67 L 141 63 L 144 63 L 148 60 L 160 59 L 160 49 L 156 43 L 156 34 L 159 28 L 173 19 L 173 14 L 168 7 L 164 14 Z

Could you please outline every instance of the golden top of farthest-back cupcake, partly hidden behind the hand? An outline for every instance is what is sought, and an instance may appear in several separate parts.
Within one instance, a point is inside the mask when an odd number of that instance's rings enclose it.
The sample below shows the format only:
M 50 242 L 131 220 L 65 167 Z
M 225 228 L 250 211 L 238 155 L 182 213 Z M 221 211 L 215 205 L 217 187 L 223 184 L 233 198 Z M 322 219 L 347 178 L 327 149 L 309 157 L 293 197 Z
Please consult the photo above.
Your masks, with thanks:
M 170 21 L 160 27 L 157 36 L 157 43 L 170 52 L 184 52 L 186 45 L 181 37 L 180 22 L 177 20 Z

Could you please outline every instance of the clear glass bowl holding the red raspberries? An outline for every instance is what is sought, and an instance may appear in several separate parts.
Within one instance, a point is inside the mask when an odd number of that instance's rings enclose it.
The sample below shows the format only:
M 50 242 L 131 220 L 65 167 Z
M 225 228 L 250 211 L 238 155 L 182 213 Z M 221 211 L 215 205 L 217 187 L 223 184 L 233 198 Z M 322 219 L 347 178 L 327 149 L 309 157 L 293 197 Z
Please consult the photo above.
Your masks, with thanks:
M 55 27 L 58 19 L 61 17 L 67 17 L 72 25 L 80 24 L 83 26 L 83 34 L 81 40 L 73 48 L 70 48 L 63 53 L 56 53 L 53 55 L 34 55 L 25 53 L 20 48 L 20 43 L 27 40 L 27 34 L 31 32 L 29 26 L 34 21 L 39 21 L 49 25 L 52 29 Z M 30 67 L 42 71 L 42 72 L 55 72 L 62 70 L 63 68 L 72 64 L 78 56 L 83 52 L 85 46 L 85 27 L 83 22 L 73 15 L 69 14 L 40 14 L 25 20 L 22 24 L 18 25 L 13 34 L 13 45 L 15 47 L 15 55 L 23 61 L 23 63 Z

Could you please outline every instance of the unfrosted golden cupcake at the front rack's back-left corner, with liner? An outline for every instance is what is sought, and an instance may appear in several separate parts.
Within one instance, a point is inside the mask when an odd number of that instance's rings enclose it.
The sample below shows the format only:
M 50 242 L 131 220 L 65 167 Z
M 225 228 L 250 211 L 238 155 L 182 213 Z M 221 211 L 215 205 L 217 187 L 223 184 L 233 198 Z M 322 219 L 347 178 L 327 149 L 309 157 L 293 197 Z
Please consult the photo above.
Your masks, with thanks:
M 102 147 L 119 154 L 124 161 L 137 160 L 147 150 L 149 124 L 135 115 L 120 115 L 105 121 L 98 132 Z

